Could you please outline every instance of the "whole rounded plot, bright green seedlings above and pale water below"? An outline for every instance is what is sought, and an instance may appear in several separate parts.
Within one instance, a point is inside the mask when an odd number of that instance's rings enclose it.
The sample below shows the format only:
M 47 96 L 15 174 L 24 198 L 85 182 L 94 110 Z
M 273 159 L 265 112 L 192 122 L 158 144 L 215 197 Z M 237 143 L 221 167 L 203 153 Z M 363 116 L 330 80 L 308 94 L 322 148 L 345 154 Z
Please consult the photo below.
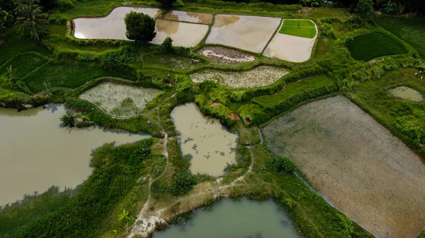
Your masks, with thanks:
M 283 20 L 263 55 L 297 63 L 307 61 L 316 38 L 317 26 L 311 20 Z

